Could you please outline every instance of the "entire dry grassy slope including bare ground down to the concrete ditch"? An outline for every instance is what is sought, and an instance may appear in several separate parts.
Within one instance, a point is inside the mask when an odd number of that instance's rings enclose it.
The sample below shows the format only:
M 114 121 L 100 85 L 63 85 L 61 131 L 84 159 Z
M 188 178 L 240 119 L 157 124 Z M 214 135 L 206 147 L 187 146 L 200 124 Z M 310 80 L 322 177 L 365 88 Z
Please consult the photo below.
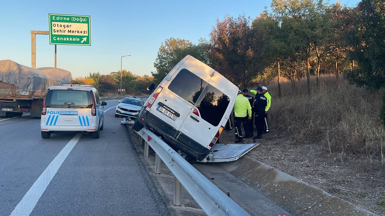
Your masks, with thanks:
M 272 96 L 271 133 L 248 153 L 285 173 L 385 216 L 385 131 L 380 93 L 370 93 L 335 76 L 320 77 L 307 95 L 306 80 L 266 85 Z M 255 130 L 255 129 L 254 129 Z M 221 143 L 233 143 L 224 131 Z M 252 140 L 245 140 L 246 143 Z

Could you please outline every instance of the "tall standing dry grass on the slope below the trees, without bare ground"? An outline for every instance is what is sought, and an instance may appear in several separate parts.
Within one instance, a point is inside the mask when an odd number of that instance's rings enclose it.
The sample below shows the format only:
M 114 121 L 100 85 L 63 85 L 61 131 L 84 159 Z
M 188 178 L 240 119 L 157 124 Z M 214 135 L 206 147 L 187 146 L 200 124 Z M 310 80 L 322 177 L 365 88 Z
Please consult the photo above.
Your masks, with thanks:
M 385 131 L 379 111 L 381 95 L 370 93 L 340 78 L 321 76 L 320 86 L 311 80 L 313 91 L 307 95 L 306 80 L 267 85 L 272 96 L 269 123 L 278 136 L 292 136 L 294 143 L 319 144 L 321 151 L 355 154 L 383 161 Z

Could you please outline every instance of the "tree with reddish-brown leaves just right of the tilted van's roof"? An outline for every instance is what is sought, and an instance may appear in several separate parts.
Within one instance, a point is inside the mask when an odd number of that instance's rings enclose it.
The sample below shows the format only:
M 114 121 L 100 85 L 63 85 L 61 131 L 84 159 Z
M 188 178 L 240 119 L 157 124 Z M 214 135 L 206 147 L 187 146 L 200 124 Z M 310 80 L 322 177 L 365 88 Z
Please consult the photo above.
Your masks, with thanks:
M 209 56 L 215 70 L 235 85 L 247 88 L 251 80 L 262 73 L 265 61 L 262 50 L 266 35 L 254 29 L 245 15 L 217 20 L 210 33 Z

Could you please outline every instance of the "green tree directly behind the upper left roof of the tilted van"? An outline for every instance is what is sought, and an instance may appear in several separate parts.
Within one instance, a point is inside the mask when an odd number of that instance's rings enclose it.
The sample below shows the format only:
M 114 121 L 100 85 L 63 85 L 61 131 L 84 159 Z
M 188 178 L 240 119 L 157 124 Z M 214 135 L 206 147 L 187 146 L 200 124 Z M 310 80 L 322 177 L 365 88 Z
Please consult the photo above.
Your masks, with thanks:
M 160 83 L 171 69 L 187 55 L 208 63 L 208 57 L 204 51 L 204 45 L 192 44 L 189 40 L 169 38 L 161 43 L 154 67 L 156 71 L 151 72 L 154 82 Z

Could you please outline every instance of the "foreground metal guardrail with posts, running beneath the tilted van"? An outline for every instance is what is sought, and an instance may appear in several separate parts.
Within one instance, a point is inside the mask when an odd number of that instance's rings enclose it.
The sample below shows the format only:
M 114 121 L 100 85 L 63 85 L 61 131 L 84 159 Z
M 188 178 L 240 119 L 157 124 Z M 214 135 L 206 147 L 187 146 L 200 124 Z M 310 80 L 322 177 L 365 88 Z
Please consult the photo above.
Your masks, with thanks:
M 182 184 L 207 215 L 250 216 L 154 133 L 142 128 L 134 135 L 139 138 L 139 145 L 144 141 L 144 157 L 148 157 L 149 145 L 155 151 L 155 174 L 161 173 L 161 161 L 174 174 L 174 206 L 182 204 Z

